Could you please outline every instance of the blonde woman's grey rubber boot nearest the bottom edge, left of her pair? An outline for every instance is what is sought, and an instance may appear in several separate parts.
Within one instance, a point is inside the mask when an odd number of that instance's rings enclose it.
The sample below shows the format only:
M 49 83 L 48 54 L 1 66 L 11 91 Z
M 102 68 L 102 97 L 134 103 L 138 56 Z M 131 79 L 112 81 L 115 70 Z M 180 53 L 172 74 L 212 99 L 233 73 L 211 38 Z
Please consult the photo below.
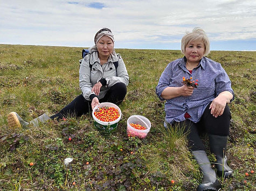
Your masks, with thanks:
M 212 169 L 210 161 L 206 155 L 206 152 L 203 150 L 192 151 L 193 156 L 195 157 L 201 172 L 204 175 L 203 183 L 197 187 L 197 191 L 203 190 L 219 190 L 222 186 L 219 184 L 216 179 L 215 170 Z

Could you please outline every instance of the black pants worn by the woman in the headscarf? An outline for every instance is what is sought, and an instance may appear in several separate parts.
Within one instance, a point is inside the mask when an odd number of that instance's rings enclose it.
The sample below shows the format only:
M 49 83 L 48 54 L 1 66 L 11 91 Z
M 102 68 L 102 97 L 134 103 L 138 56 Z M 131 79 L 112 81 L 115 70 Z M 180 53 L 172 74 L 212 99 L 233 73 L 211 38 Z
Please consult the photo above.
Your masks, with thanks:
M 99 102 L 112 102 L 113 104 L 119 105 L 126 96 L 127 87 L 124 83 L 116 83 L 106 93 L 105 97 L 99 100 Z M 92 101 L 88 101 L 82 96 L 78 96 L 73 101 L 70 102 L 66 107 L 61 109 L 61 111 L 55 115 L 50 116 L 51 119 L 63 119 L 67 116 L 81 116 L 89 111 L 92 111 L 91 106 Z

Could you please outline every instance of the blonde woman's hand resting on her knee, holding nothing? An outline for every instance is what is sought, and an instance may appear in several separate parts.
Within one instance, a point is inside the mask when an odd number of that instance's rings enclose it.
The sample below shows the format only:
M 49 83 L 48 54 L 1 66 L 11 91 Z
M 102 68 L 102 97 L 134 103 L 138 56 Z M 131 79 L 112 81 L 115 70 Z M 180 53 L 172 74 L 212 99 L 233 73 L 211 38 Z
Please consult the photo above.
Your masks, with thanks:
M 210 105 L 211 114 L 215 117 L 218 117 L 223 114 L 224 109 L 226 107 L 226 98 L 218 96 L 217 98 L 212 100 Z

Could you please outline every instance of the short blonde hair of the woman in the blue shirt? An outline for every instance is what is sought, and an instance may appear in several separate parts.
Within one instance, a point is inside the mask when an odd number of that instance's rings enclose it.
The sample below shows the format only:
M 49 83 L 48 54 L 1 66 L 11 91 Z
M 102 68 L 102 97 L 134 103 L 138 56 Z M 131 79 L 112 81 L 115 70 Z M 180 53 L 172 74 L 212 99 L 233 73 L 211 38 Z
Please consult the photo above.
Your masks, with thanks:
M 204 56 L 210 53 L 210 41 L 202 28 L 194 28 L 191 33 L 186 32 L 181 40 L 181 52 L 185 54 L 185 48 L 190 41 L 203 40 L 205 45 Z

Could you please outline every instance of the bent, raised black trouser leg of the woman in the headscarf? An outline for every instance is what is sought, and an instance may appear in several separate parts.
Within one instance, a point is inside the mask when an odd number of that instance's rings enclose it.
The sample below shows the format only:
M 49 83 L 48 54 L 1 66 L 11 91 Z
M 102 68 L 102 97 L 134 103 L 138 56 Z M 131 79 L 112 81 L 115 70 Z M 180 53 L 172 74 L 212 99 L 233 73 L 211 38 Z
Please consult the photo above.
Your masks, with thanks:
M 124 83 L 119 82 L 110 87 L 105 97 L 100 99 L 100 102 L 111 102 L 120 105 L 126 96 L 127 87 Z

